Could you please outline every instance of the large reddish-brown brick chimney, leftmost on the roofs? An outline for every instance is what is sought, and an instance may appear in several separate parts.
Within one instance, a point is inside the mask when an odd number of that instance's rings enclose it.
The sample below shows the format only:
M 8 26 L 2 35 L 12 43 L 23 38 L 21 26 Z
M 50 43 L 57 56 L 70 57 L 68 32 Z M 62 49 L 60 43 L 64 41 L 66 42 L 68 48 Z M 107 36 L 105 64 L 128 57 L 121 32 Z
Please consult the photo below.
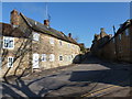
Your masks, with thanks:
M 10 23 L 13 26 L 19 26 L 19 12 L 16 10 L 11 11 Z

